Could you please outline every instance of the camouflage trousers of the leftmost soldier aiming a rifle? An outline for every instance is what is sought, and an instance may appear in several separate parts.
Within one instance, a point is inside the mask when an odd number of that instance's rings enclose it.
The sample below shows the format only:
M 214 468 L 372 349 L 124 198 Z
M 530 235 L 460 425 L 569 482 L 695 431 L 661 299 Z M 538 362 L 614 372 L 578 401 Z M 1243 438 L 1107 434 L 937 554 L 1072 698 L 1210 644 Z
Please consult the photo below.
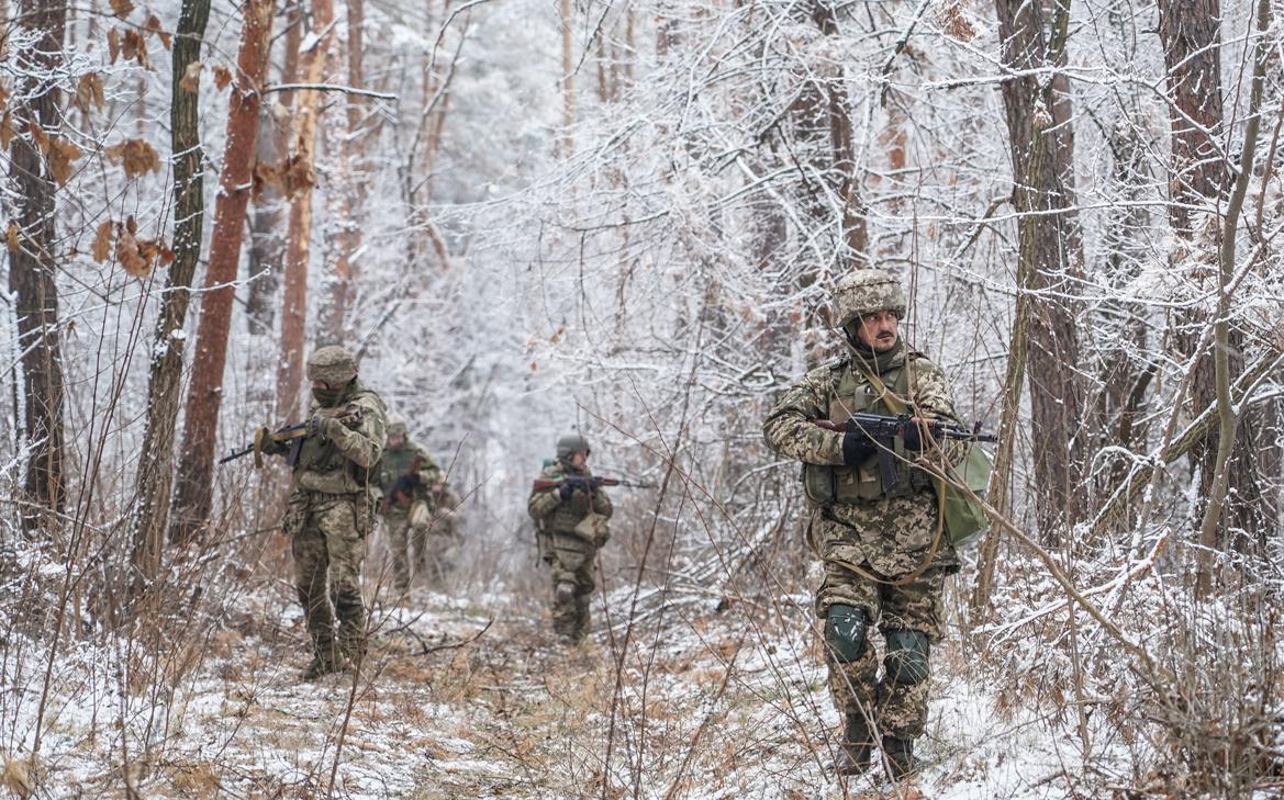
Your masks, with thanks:
M 366 492 L 327 495 L 295 490 L 282 529 L 294 554 L 294 587 L 303 605 L 317 658 L 336 654 L 360 660 L 366 651 L 366 606 L 361 597 L 361 563 L 375 519 Z

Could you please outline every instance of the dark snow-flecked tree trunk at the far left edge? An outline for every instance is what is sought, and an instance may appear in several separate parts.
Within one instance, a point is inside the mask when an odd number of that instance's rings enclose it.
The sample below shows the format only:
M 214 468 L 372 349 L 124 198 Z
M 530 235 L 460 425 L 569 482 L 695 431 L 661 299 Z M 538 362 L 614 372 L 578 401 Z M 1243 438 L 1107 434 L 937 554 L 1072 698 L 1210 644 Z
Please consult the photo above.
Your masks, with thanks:
M 18 317 L 22 354 L 27 474 L 22 524 L 27 532 L 54 524 L 67 500 L 63 433 L 63 355 L 58 329 L 58 263 L 54 254 L 54 177 L 32 138 L 32 127 L 53 133 L 60 92 L 54 82 L 63 60 L 64 0 L 22 0 L 18 21 L 39 36 L 18 53 L 26 77 L 15 109 L 9 177 L 15 192 L 18 247 L 9 251 L 9 291 Z

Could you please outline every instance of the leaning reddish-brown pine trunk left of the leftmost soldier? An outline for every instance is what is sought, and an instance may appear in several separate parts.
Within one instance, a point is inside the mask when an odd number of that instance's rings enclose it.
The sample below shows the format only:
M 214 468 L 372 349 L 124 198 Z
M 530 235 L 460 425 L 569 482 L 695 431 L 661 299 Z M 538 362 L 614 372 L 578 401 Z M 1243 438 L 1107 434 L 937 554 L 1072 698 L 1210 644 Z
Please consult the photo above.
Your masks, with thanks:
M 261 88 L 272 28 L 272 0 L 248 0 L 241 23 L 236 82 L 227 117 L 223 169 L 214 201 L 214 229 L 209 245 L 196 328 L 196 355 L 187 388 L 182 458 L 169 528 L 171 538 L 186 544 L 209 519 L 213 495 L 214 445 L 223 395 L 223 365 L 232 315 L 234 282 L 240 262 L 245 206 L 249 204 L 258 133 Z

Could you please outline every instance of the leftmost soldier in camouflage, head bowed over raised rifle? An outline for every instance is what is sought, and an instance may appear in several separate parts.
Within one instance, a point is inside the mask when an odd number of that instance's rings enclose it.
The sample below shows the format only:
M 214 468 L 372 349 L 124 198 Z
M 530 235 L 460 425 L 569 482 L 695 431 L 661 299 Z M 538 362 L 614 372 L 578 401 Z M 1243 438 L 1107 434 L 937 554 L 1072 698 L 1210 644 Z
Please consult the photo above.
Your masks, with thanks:
M 291 450 L 294 490 L 281 528 L 290 537 L 294 586 L 312 637 L 312 663 L 303 673 L 311 681 L 360 668 L 366 654 L 361 563 L 380 499 L 384 401 L 357 379 L 357 363 L 343 347 L 312 353 L 308 379 L 308 435 L 293 449 L 273 442 L 266 428 L 257 438 L 265 453 Z

